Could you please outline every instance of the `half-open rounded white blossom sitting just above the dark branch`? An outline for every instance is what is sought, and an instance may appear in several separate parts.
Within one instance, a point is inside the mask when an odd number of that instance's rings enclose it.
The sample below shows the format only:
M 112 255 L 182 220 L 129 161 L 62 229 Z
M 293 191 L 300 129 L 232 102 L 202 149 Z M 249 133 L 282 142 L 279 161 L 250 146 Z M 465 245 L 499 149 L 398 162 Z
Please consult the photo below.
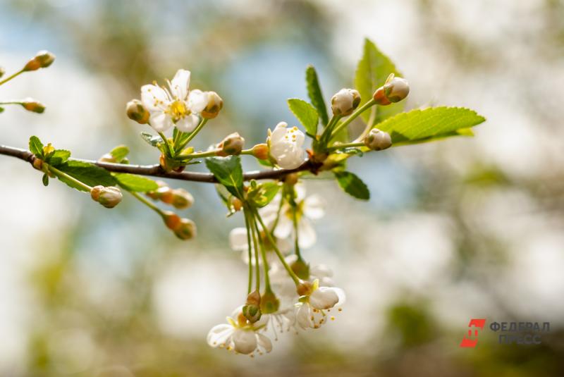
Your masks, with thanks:
M 288 123 L 280 122 L 269 136 L 270 155 L 283 169 L 298 168 L 305 161 L 302 147 L 305 135 L 298 127 L 287 128 Z

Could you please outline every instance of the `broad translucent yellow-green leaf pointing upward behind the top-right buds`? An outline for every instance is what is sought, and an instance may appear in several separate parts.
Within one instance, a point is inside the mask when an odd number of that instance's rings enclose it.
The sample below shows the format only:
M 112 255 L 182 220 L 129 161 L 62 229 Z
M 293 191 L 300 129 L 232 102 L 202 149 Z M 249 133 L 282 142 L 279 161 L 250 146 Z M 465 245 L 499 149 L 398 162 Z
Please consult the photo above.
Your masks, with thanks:
M 396 76 L 402 76 L 390 58 L 382 54 L 370 39 L 364 40 L 363 51 L 355 75 L 355 87 L 362 99 L 359 107 L 367 103 L 367 101 L 372 98 L 374 92 L 376 92 L 376 89 L 384 85 L 390 73 Z M 372 106 L 371 111 L 364 111 L 364 113 L 362 113 L 362 118 L 368 123 L 370 117 L 374 116 L 374 111 L 376 111 L 373 123 L 376 124 L 390 116 L 402 112 L 403 106 L 403 101 L 388 106 Z

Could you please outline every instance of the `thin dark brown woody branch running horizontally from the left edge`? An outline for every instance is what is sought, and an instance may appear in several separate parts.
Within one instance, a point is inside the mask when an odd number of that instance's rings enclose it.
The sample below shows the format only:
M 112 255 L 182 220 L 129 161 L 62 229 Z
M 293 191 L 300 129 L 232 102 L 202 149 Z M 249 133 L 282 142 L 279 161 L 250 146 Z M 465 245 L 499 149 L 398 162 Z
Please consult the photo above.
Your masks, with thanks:
M 6 156 L 16 157 L 23 161 L 33 163 L 35 161 L 35 156 L 26 149 L 8 147 L 6 145 L 0 144 L 0 154 Z M 183 171 L 182 173 L 176 173 L 174 171 L 167 172 L 160 165 L 130 165 L 125 163 L 109 163 L 109 162 L 99 162 L 92 160 L 83 159 L 69 159 L 73 161 L 81 161 L 87 163 L 93 163 L 100 168 L 106 169 L 106 171 L 111 171 L 114 173 L 130 173 L 137 175 L 152 175 L 154 177 L 160 178 L 171 178 L 177 180 L 190 180 L 193 182 L 205 182 L 205 183 L 217 183 L 216 178 L 212 173 L 197 173 L 192 171 Z M 300 171 L 314 171 L 314 166 L 310 161 L 305 161 L 301 166 L 295 169 L 281 169 L 281 170 L 271 170 L 271 171 L 251 171 L 249 173 L 243 174 L 244 180 L 266 180 L 266 179 L 280 179 L 290 173 L 298 173 Z

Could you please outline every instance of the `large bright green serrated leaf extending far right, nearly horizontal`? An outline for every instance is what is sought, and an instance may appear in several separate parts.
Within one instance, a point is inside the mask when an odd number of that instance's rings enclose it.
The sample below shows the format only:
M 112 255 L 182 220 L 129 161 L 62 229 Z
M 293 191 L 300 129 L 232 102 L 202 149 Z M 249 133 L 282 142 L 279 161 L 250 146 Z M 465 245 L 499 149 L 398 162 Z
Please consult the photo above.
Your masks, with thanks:
M 434 107 L 398 114 L 376 125 L 376 128 L 388 132 L 393 145 L 398 146 L 449 136 L 471 136 L 469 128 L 485 120 L 470 109 Z

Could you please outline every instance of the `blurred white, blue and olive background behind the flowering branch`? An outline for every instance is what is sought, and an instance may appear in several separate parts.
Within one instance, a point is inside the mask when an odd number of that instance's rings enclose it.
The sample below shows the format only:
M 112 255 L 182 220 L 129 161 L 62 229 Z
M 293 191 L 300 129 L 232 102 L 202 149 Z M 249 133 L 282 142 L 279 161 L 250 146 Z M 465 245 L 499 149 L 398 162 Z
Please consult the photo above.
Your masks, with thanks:
M 1 87 L 41 116 L 6 108 L 0 142 L 30 135 L 97 159 L 128 144 L 154 163 L 124 104 L 140 85 L 192 70 L 225 101 L 197 138 L 235 130 L 248 145 L 305 98 L 353 85 L 369 37 L 410 80 L 408 107 L 467 106 L 476 137 L 400 147 L 350 162 L 372 199 L 331 180 L 319 242 L 348 302 L 321 330 L 285 334 L 250 359 L 212 350 L 209 328 L 238 306 L 246 267 L 212 186 L 190 190 L 197 240 L 176 240 L 126 197 L 108 211 L 22 161 L 0 159 L 1 376 L 564 376 L 564 1 L 1 0 L 0 65 L 39 49 L 47 70 Z M 245 162 L 246 168 L 258 166 Z M 195 170 L 200 169 L 195 167 Z M 542 345 L 499 345 L 471 318 L 551 323 Z

